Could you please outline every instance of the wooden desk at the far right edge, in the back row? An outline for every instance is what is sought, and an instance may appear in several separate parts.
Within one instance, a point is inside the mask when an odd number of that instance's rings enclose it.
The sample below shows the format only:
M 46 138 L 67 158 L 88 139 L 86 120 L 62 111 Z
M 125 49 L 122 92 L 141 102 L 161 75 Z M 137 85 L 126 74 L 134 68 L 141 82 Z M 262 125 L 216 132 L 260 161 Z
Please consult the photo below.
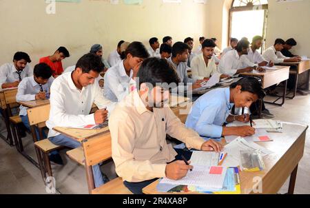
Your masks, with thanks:
M 306 90 L 309 90 L 309 79 L 310 79 L 310 60 L 303 60 L 300 62 L 285 62 L 285 63 L 278 63 L 277 65 L 287 65 L 287 66 L 296 66 L 296 69 L 291 69 L 290 72 L 291 74 L 295 74 L 295 85 L 294 85 L 294 90 L 293 90 L 293 96 L 287 97 L 293 99 L 296 96 L 296 91 L 297 91 L 297 85 L 298 85 L 298 77 L 299 74 L 302 74 L 304 72 L 308 72 L 307 74 L 307 83 L 306 84 Z

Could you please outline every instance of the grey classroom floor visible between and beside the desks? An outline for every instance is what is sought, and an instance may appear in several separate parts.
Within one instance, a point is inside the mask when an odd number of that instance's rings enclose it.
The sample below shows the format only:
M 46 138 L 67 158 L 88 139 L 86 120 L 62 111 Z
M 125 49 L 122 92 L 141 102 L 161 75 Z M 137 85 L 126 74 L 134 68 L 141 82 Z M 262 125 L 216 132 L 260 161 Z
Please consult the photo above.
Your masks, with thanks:
M 282 107 L 267 105 L 267 108 L 276 116 L 274 119 L 293 123 L 310 125 L 310 94 L 296 96 L 293 100 L 287 99 Z M 6 127 L 0 118 L 0 130 L 6 135 Z M 37 160 L 30 135 L 23 138 L 25 151 Z M 87 194 L 85 169 L 65 156 L 66 149 L 61 150 L 64 166 L 52 165 L 56 178 L 56 189 L 59 194 Z M 310 134 L 309 130 L 304 148 L 304 156 L 298 167 L 295 194 L 310 194 Z M 102 166 L 103 172 L 109 178 L 115 178 L 112 161 Z M 289 179 L 289 178 L 288 178 Z M 288 181 L 280 189 L 279 194 L 285 194 Z M 10 147 L 0 138 L 0 194 L 47 194 L 41 173 L 37 167 Z

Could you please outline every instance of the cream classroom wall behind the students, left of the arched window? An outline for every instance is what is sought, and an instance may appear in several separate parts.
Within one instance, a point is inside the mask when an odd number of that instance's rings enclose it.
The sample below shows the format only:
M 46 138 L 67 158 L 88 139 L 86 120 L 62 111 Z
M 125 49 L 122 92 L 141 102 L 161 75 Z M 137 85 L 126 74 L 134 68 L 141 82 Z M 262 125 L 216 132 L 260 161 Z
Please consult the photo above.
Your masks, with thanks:
M 46 14 L 44 0 L 0 1 L 0 65 L 12 61 L 14 52 L 30 54 L 32 66 L 41 56 L 48 56 L 60 45 L 72 55 L 64 67 L 74 65 L 89 52 L 94 43 L 103 45 L 103 56 L 116 48 L 118 41 L 142 41 L 166 35 L 175 41 L 208 36 L 208 5 L 183 0 L 163 3 L 144 0 L 140 6 L 127 6 L 120 1 L 111 5 L 106 0 L 83 0 L 81 3 L 56 3 L 56 14 Z

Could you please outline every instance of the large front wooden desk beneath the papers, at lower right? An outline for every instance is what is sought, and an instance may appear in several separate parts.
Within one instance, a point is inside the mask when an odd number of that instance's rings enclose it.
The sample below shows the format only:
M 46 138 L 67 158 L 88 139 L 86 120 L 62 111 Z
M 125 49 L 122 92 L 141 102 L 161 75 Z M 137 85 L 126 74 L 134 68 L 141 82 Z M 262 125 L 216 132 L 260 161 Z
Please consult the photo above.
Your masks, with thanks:
M 298 163 L 304 154 L 304 141 L 308 126 L 292 123 L 283 124 L 283 133 L 270 133 L 272 142 L 258 143 L 274 152 L 264 157 L 265 170 L 258 172 L 240 172 L 242 194 L 256 194 L 259 185 L 262 191 L 258 194 L 277 194 L 278 190 L 291 176 L 289 194 L 293 194 Z M 262 183 L 258 183 L 261 181 Z M 167 194 L 156 190 L 158 180 L 143 189 L 145 194 Z

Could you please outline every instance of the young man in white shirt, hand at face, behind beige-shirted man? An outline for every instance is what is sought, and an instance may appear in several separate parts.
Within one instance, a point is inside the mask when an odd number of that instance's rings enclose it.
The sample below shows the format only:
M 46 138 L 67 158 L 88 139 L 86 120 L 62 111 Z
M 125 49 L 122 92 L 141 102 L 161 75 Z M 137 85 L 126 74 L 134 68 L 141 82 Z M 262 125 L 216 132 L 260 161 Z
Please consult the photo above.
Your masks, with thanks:
M 134 78 L 138 73 L 138 67 L 149 53 L 141 42 L 132 42 L 128 45 L 123 61 L 105 72 L 104 94 L 112 102 L 120 102 L 135 87 Z

